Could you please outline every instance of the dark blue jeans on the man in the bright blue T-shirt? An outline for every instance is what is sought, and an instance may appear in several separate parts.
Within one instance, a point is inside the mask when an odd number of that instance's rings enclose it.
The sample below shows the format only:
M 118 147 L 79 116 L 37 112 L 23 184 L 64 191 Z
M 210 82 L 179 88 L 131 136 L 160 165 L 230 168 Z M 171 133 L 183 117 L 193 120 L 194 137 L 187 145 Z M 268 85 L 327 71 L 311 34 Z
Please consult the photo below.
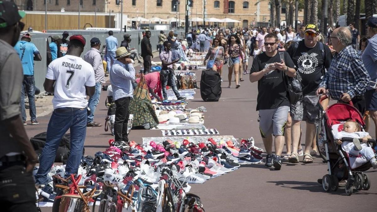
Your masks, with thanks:
M 30 120 L 35 121 L 37 119 L 37 112 L 35 111 L 35 82 L 34 76 L 32 75 L 24 75 L 24 80 L 22 82 L 21 88 L 21 115 L 22 121 L 26 121 L 26 109 L 25 109 L 25 90 L 28 94 L 29 99 L 29 115 Z

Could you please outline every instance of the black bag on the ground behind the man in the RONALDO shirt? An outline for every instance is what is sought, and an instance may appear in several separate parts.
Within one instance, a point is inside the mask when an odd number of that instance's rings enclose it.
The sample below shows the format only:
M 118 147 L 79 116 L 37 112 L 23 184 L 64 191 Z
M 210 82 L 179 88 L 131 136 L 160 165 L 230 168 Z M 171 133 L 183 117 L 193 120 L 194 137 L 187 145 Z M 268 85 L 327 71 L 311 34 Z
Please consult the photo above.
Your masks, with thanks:
M 38 163 L 40 160 L 40 156 L 42 154 L 42 150 L 44 145 L 46 144 L 46 135 L 47 132 L 41 132 L 40 134 L 35 135 L 34 137 L 30 138 L 30 142 L 34 147 L 34 151 L 37 154 Z M 55 161 L 57 163 L 65 163 L 65 161 L 69 157 L 70 151 L 70 134 L 67 133 L 63 135 L 60 140 L 59 147 L 56 151 Z M 84 155 L 85 149 L 83 149 Z

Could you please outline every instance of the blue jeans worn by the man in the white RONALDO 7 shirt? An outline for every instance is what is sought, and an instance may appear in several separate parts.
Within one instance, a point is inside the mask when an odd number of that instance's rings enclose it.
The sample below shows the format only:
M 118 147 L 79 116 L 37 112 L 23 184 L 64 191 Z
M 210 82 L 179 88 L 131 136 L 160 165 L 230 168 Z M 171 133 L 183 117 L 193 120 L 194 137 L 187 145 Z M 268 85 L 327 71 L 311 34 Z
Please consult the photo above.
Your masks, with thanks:
M 56 151 L 63 135 L 70 129 L 70 152 L 66 165 L 66 177 L 77 174 L 83 156 L 86 136 L 86 108 L 58 108 L 52 112 L 48 123 L 46 144 L 43 147 L 35 180 L 37 184 L 47 184 L 47 174 L 55 161 Z

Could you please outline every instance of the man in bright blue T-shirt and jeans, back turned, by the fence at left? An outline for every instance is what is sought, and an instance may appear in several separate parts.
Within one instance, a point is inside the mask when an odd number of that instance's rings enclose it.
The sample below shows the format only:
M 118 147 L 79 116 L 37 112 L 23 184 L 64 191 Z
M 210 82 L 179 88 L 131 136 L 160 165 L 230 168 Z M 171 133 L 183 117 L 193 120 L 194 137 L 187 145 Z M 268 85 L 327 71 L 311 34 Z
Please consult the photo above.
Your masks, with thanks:
M 34 43 L 30 43 L 31 34 L 25 32 L 20 41 L 16 43 L 14 49 L 20 56 L 24 80 L 21 89 L 21 115 L 23 124 L 26 125 L 26 111 L 25 111 L 25 89 L 29 98 L 29 114 L 31 124 L 39 124 L 37 121 L 37 112 L 35 111 L 35 81 L 34 81 L 34 60 L 41 61 L 42 57 L 39 54 Z

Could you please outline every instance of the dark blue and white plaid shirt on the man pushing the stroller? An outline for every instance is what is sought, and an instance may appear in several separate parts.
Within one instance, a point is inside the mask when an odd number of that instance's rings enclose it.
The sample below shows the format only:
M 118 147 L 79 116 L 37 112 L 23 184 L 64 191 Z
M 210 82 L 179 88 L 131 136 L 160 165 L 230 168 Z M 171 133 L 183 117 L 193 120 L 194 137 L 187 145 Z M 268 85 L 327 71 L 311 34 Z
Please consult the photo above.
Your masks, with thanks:
M 364 94 L 370 79 L 360 55 L 349 45 L 333 57 L 319 87 L 328 89 L 334 100 L 343 93 L 352 99 Z

